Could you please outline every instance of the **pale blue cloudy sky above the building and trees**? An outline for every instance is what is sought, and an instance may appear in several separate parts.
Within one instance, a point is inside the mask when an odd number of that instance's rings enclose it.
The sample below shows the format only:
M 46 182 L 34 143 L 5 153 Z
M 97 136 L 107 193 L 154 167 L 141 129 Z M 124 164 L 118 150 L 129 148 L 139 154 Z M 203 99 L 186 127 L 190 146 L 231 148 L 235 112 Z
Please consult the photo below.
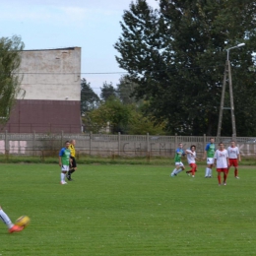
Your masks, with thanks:
M 132 0 L 0 0 L 0 37 L 21 36 L 25 49 L 82 47 L 81 78 L 96 94 L 125 74 L 113 45 Z M 147 0 L 154 9 L 157 0 Z M 101 74 L 94 74 L 101 73 Z M 104 74 L 115 73 L 115 74 Z

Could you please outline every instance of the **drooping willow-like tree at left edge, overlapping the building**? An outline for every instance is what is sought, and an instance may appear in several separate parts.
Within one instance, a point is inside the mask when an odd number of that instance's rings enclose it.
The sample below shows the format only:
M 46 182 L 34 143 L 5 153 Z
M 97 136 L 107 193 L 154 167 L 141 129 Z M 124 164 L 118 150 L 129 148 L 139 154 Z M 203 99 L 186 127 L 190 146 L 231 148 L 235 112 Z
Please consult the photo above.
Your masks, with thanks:
M 21 93 L 22 76 L 19 76 L 21 51 L 24 43 L 21 37 L 0 38 L 0 122 L 9 120 L 15 99 Z

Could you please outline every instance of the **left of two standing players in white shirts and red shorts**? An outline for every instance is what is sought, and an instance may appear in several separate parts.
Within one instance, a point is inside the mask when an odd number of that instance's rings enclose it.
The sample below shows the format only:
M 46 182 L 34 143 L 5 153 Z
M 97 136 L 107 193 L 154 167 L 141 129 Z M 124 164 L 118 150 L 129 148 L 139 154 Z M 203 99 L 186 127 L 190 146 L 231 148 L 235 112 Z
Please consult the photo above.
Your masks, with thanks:
M 226 185 L 226 177 L 227 177 L 227 166 L 228 166 L 228 154 L 224 149 L 224 144 L 221 142 L 219 144 L 219 150 L 215 152 L 215 163 L 218 171 L 218 181 L 219 186 L 222 184 L 222 176 L 221 173 L 224 172 L 224 185 Z

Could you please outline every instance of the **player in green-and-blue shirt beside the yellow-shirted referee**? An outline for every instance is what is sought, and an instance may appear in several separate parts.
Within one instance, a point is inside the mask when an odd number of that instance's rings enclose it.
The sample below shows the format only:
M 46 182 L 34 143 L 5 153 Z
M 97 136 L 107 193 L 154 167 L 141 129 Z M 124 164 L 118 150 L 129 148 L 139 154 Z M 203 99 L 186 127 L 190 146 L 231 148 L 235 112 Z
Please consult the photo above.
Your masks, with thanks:
M 60 184 L 65 185 L 67 182 L 65 181 L 65 176 L 69 171 L 69 164 L 72 164 L 72 160 L 70 158 L 70 150 L 69 150 L 70 142 L 66 141 L 65 147 L 62 148 L 59 152 L 59 165 L 61 166 L 60 173 Z

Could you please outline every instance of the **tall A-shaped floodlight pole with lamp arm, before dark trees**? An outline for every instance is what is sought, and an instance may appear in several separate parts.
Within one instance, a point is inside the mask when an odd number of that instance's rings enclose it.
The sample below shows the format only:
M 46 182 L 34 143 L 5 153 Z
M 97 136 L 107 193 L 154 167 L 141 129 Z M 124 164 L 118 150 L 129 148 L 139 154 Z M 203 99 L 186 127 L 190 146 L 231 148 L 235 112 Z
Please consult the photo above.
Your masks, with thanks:
M 231 78 L 231 68 L 230 68 L 230 61 L 229 61 L 229 50 L 244 46 L 245 43 L 239 43 L 233 47 L 226 49 L 226 61 L 224 65 L 224 84 L 223 84 L 223 93 L 221 99 L 221 107 L 220 107 L 220 114 L 219 114 L 219 124 L 218 124 L 218 132 L 217 138 L 221 137 L 221 130 L 222 130 L 222 123 L 223 123 L 223 114 L 224 109 L 231 110 L 231 122 L 232 122 L 232 138 L 236 138 L 236 128 L 235 128 L 235 118 L 234 118 L 234 105 L 233 105 L 233 89 L 232 89 L 232 78 Z M 226 83 L 226 75 L 228 76 L 228 84 L 229 84 L 229 96 L 230 96 L 230 106 L 224 107 L 224 93 L 225 93 L 225 83 Z

